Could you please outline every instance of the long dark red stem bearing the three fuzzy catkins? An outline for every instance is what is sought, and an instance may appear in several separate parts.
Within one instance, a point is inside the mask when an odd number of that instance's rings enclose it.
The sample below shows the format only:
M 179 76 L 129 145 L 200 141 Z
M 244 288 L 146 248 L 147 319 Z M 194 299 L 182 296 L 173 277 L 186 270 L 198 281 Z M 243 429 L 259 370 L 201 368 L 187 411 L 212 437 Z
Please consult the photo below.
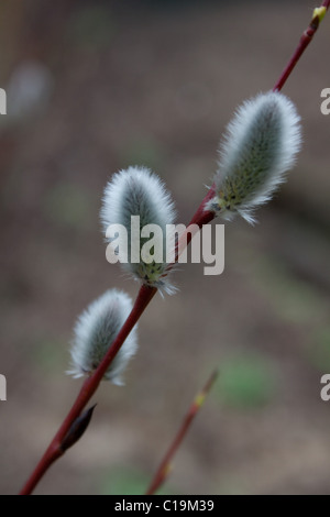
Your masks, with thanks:
M 330 0 L 326 0 L 322 3 L 322 7 L 324 7 L 327 10 L 329 9 L 330 6 Z M 317 19 L 317 21 L 316 21 Z M 301 40 L 299 42 L 299 45 L 294 53 L 292 59 L 289 61 L 287 67 L 283 72 L 279 80 L 274 87 L 274 91 L 277 90 L 279 91 L 286 80 L 288 79 L 289 75 L 292 74 L 293 69 L 297 65 L 300 56 L 307 48 L 308 44 L 310 43 L 314 34 L 316 33 L 318 25 L 319 25 L 319 16 L 314 16 L 309 28 L 305 31 L 305 33 L 301 36 Z M 204 224 L 208 224 L 212 219 L 215 219 L 215 213 L 205 210 L 205 205 L 212 198 L 215 194 L 215 186 L 210 188 L 208 191 L 207 196 L 205 199 L 201 201 L 199 208 L 197 209 L 195 216 L 193 217 L 191 221 L 189 224 L 198 224 L 199 228 L 201 228 Z M 191 241 L 193 235 L 188 233 L 186 235 L 187 239 L 187 245 Z M 178 258 L 178 253 L 176 253 L 176 260 L 177 262 Z M 105 359 L 98 366 L 98 369 L 95 371 L 95 373 L 85 381 L 85 383 L 81 386 L 81 389 L 76 398 L 76 402 L 74 403 L 69 414 L 63 421 L 61 428 L 58 429 L 57 433 L 55 435 L 54 439 L 52 440 L 50 447 L 47 448 L 46 452 L 44 453 L 43 458 L 41 459 L 40 463 L 31 474 L 30 479 L 28 480 L 26 484 L 22 488 L 20 495 L 30 495 L 34 491 L 35 486 L 40 482 L 40 480 L 43 477 L 45 472 L 48 470 L 48 468 L 64 454 L 64 451 L 62 450 L 61 446 L 68 433 L 70 427 L 75 422 L 75 420 L 80 416 L 82 409 L 86 407 L 92 395 L 96 393 L 103 374 L 108 370 L 110 363 L 121 349 L 122 344 L 124 343 L 127 337 L 133 329 L 133 327 L 139 321 L 140 317 L 144 312 L 145 308 L 156 294 L 157 289 L 153 287 L 148 287 L 143 285 L 140 288 L 140 292 L 138 294 L 136 300 L 134 302 L 133 309 L 123 324 L 121 331 L 117 336 L 114 342 L 112 343 L 111 348 L 109 349 L 108 353 L 106 354 Z

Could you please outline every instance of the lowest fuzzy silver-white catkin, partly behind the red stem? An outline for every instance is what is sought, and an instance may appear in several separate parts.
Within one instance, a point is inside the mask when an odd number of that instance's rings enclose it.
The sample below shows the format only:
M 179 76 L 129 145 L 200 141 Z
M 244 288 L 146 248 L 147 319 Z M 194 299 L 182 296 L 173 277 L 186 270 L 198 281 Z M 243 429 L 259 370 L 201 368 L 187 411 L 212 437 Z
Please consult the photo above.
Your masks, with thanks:
M 78 317 L 72 345 L 75 378 L 92 373 L 105 358 L 132 309 L 131 298 L 117 289 L 107 290 Z M 138 349 L 136 326 L 132 329 L 105 374 L 105 380 L 122 385 L 122 373 Z

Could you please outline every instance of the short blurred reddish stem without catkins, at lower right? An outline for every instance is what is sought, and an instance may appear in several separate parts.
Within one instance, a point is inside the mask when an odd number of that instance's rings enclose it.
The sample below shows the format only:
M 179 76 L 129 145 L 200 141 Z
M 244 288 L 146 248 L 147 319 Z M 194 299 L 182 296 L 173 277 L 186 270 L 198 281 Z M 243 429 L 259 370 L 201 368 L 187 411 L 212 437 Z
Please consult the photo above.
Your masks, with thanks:
M 217 377 L 218 377 L 218 371 L 215 371 L 210 375 L 208 382 L 206 383 L 206 385 L 204 386 L 201 392 L 199 392 L 199 394 L 195 397 L 194 403 L 189 407 L 188 413 L 184 418 L 182 427 L 179 428 L 177 435 L 175 436 L 175 438 L 174 438 L 172 444 L 169 446 L 166 454 L 164 455 L 164 459 L 162 460 L 162 463 L 161 463 L 157 472 L 155 473 L 155 475 L 154 475 L 154 477 L 151 482 L 151 485 L 147 488 L 145 495 L 153 495 L 160 488 L 160 486 L 164 483 L 166 477 L 168 476 L 168 473 L 170 471 L 172 459 L 175 455 L 178 448 L 180 447 L 182 441 L 186 437 L 186 435 L 187 435 L 187 432 L 188 432 L 188 430 L 189 430 L 189 428 L 193 424 L 193 420 L 195 419 L 196 415 L 199 413 L 207 395 L 209 394 L 209 392 L 210 392 L 211 387 L 213 386 L 215 382 L 217 381 Z

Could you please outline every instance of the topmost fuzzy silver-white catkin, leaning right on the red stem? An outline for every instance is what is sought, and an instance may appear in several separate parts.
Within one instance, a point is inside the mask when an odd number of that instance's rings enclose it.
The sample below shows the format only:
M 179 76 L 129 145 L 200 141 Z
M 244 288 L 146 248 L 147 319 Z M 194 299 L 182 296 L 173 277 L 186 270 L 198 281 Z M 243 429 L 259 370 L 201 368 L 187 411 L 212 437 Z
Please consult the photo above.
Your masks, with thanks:
M 268 201 L 301 145 L 300 118 L 279 92 L 245 101 L 227 128 L 215 177 L 216 197 L 208 210 L 232 219 L 240 213 L 254 222 L 254 209 Z

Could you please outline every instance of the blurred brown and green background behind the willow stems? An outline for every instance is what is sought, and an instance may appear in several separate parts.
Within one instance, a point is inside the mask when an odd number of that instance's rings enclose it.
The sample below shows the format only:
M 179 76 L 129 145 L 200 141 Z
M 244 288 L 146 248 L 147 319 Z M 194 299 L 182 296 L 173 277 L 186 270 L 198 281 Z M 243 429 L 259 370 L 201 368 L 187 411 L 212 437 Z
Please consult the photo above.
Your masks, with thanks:
M 21 487 L 80 386 L 65 375 L 77 315 L 109 287 L 107 179 L 140 164 L 187 222 L 235 107 L 273 87 L 315 2 L 11 0 L 0 6 L 0 492 Z M 220 377 L 166 494 L 330 493 L 330 18 L 284 92 L 299 164 L 254 228 L 226 226 L 226 271 L 176 273 L 140 324 L 125 387 L 103 384 L 81 441 L 37 494 L 142 494 L 195 393 Z

